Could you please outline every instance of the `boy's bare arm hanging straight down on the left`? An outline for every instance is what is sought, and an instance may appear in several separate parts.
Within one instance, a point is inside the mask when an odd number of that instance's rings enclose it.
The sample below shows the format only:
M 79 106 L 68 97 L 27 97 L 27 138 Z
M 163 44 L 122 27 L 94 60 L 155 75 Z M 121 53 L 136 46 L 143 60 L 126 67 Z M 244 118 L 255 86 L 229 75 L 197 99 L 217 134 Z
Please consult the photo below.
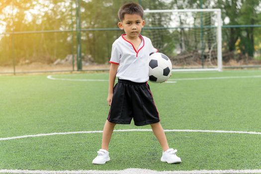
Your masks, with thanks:
M 108 98 L 107 102 L 109 106 L 111 105 L 111 100 L 113 96 L 113 87 L 116 79 L 116 74 L 118 70 L 118 64 L 110 64 L 110 72 L 109 72 L 109 89 L 108 89 Z

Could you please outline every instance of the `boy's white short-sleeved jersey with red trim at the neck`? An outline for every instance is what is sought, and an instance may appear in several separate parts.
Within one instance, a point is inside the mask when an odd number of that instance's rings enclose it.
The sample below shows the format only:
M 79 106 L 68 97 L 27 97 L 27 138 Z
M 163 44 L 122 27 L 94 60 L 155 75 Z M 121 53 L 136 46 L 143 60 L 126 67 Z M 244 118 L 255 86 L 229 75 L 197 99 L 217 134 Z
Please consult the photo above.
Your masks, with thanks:
M 148 37 L 139 35 L 142 42 L 138 48 L 127 41 L 122 34 L 112 44 L 110 63 L 119 64 L 116 77 L 132 82 L 143 83 L 149 80 L 149 57 L 158 52 Z

